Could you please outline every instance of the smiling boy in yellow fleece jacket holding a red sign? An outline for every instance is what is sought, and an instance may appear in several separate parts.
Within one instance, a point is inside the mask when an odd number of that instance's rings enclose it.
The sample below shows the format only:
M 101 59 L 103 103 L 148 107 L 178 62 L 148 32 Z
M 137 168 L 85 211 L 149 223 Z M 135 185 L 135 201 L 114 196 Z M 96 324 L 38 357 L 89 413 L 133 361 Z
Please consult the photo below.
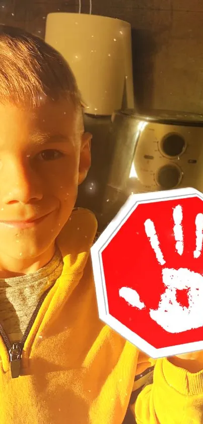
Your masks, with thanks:
M 50 46 L 0 29 L 0 423 L 121 424 L 155 361 L 98 318 L 97 223 L 74 210 L 90 167 L 80 93 Z M 176 422 L 178 375 L 157 361 L 132 422 Z

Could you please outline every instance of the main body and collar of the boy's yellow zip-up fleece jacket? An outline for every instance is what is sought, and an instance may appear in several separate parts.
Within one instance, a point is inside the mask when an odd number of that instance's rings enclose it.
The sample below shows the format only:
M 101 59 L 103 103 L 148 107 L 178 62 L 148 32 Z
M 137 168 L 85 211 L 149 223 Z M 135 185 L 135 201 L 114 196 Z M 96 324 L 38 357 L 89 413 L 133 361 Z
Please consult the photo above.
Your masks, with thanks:
M 62 274 L 25 341 L 18 378 L 0 337 L 1 424 L 121 424 L 134 376 L 152 365 L 98 318 L 90 258 L 96 229 L 94 215 L 79 209 L 61 230 Z

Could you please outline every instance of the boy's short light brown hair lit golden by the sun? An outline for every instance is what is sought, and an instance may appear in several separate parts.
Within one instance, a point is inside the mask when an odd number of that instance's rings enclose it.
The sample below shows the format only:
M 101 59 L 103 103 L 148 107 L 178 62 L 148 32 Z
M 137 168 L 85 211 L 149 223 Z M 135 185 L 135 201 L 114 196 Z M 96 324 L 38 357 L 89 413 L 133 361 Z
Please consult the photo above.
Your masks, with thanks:
M 39 106 L 44 96 L 83 106 L 75 76 L 55 49 L 20 28 L 0 25 L 0 103 Z

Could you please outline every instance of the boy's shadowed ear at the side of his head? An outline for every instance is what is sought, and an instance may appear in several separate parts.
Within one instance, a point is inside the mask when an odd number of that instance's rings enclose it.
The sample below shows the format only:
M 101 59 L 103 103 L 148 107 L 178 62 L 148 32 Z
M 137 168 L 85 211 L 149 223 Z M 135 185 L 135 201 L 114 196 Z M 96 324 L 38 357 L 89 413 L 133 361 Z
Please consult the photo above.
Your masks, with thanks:
M 91 165 L 91 139 L 92 134 L 90 132 L 84 132 L 81 137 L 81 149 L 80 149 L 80 163 L 79 163 L 79 177 L 78 184 L 81 184 L 90 169 Z

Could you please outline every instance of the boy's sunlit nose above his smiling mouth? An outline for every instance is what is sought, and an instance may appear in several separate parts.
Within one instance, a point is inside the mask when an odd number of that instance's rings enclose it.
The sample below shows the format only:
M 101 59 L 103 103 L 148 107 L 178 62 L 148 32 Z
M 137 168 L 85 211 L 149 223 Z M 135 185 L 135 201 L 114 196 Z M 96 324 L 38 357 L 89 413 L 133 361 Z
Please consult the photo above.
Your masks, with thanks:
M 13 202 L 30 203 L 42 199 L 42 183 L 33 169 L 25 164 L 12 164 L 4 175 L 4 184 L 0 187 L 4 204 Z M 0 183 L 3 170 L 0 171 Z M 4 172 L 3 172 L 4 173 Z

